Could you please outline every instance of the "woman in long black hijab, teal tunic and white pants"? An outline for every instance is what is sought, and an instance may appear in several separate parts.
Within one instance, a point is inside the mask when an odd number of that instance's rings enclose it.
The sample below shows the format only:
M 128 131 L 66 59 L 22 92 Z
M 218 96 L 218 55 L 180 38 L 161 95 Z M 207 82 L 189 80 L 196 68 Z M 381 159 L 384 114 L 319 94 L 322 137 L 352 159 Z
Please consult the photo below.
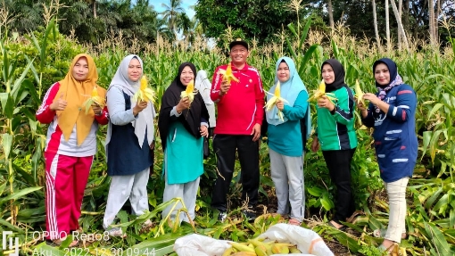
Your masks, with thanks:
M 203 174 L 203 136 L 209 136 L 209 112 L 203 103 L 203 97 L 194 92 L 194 100 L 180 95 L 196 75 L 194 64 L 184 62 L 178 67 L 178 75 L 161 99 L 158 120 L 161 145 L 164 152 L 165 188 L 163 202 L 181 197 L 194 219 L 196 194 L 199 177 Z M 178 205 L 171 212 L 171 219 L 190 222 L 183 212 L 177 216 Z M 170 212 L 170 207 L 162 212 L 163 218 Z

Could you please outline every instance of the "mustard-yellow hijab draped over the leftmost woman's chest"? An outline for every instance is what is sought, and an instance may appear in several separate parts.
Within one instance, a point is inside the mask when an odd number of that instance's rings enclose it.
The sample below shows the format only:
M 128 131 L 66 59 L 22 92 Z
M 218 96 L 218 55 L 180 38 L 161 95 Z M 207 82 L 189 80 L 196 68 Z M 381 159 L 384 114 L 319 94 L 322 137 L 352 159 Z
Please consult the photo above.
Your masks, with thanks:
M 72 76 L 72 71 L 76 62 L 82 57 L 87 59 L 88 75 L 85 80 L 79 81 Z M 74 125 L 76 125 L 78 145 L 84 142 L 90 132 L 95 120 L 95 112 L 90 108 L 86 114 L 86 108 L 83 106 L 84 102 L 91 96 L 94 87 L 97 87 L 99 96 L 103 98 L 106 96 L 106 90 L 96 85 L 97 79 L 98 72 L 93 58 L 88 54 L 78 54 L 72 60 L 66 77 L 59 81 L 60 88 L 57 95 L 55 95 L 54 102 L 62 96 L 68 103 L 64 111 L 57 111 L 57 123 L 62 129 L 63 137 L 66 141 L 70 139 Z

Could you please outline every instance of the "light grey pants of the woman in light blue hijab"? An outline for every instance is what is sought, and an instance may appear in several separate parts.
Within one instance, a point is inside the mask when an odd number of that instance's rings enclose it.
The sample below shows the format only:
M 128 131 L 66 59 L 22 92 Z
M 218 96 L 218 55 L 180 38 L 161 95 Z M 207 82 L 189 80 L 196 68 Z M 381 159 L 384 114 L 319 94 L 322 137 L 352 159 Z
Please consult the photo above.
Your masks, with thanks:
M 270 169 L 278 200 L 279 214 L 289 212 L 291 218 L 302 222 L 305 213 L 305 193 L 303 190 L 303 159 L 302 156 L 285 156 L 269 149 Z

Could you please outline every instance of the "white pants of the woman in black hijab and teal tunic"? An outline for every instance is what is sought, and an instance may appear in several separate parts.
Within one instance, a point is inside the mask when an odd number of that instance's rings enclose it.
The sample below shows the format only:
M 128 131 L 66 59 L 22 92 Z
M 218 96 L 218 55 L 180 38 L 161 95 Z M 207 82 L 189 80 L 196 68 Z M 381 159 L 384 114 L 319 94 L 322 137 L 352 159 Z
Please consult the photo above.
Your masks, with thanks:
M 194 181 L 186 182 L 183 184 L 168 184 L 168 175 L 164 174 L 165 186 L 164 186 L 164 194 L 162 195 L 162 202 L 168 202 L 172 198 L 180 197 L 183 199 L 185 203 L 186 210 L 189 213 L 191 220 L 194 219 L 196 216 L 194 209 L 196 207 L 196 195 L 197 190 L 199 189 L 199 180 L 200 178 L 196 178 Z M 162 219 L 168 216 L 170 210 L 174 204 L 170 204 L 164 211 L 162 211 Z M 175 220 L 178 209 L 182 208 L 182 203 L 178 202 L 177 207 L 170 213 L 170 219 Z M 185 212 L 180 212 L 178 215 L 178 223 L 183 221 L 190 222 L 188 216 Z

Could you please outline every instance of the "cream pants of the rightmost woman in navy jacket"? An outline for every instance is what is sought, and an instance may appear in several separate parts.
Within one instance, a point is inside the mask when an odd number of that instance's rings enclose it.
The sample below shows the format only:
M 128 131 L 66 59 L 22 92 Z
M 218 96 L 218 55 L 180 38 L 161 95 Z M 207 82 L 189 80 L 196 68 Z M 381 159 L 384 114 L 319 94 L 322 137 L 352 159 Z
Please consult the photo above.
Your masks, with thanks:
M 406 233 L 406 186 L 409 177 L 385 183 L 389 196 L 389 226 L 385 239 L 401 243 L 401 233 Z

